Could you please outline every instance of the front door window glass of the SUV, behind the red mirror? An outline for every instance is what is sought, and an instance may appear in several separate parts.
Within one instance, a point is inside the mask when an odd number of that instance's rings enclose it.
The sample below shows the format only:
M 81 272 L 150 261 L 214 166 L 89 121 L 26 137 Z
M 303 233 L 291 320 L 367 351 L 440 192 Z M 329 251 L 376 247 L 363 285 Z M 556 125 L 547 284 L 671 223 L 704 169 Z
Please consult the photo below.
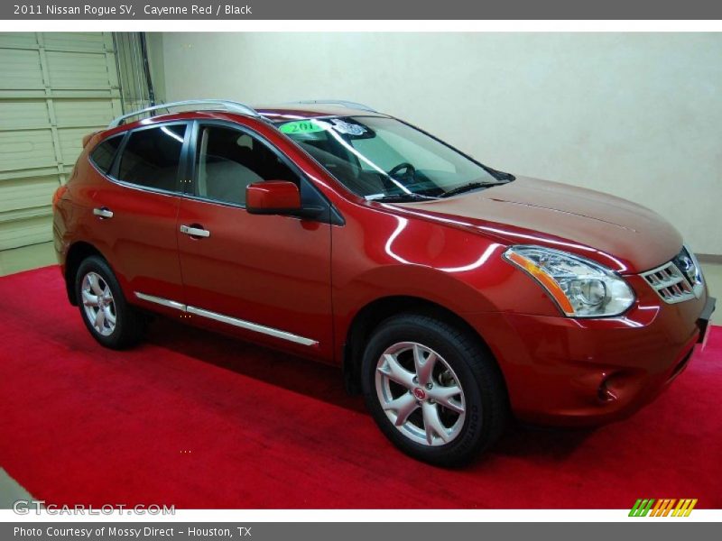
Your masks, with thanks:
M 245 205 L 245 188 L 264 180 L 300 180 L 255 137 L 224 126 L 201 126 L 196 151 L 196 195 Z

